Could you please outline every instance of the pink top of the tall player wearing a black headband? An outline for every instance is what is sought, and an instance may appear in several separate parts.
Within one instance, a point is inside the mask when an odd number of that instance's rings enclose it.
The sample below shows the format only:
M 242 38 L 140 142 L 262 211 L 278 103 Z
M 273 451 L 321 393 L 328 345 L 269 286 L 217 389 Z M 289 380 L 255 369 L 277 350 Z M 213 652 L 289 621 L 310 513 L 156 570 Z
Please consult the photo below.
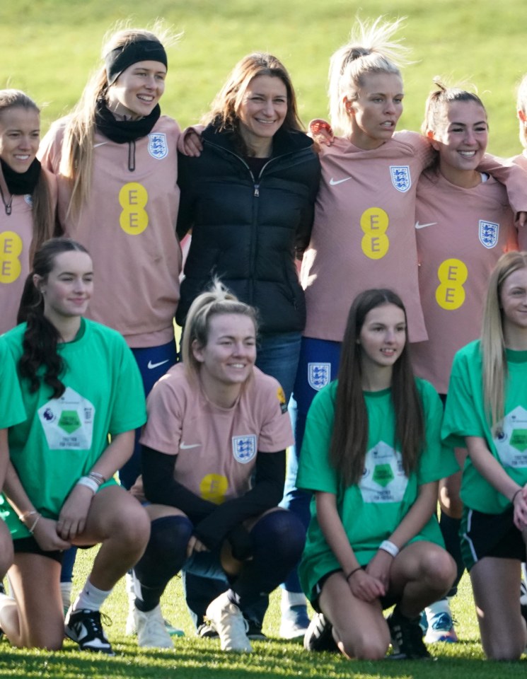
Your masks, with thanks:
M 93 258 L 88 316 L 118 330 L 130 347 L 166 344 L 174 337 L 182 265 L 175 235 L 180 128 L 161 116 L 150 134 L 132 144 L 95 133 L 91 197 L 74 221 L 66 216 L 70 183 L 59 174 L 64 125 L 63 119 L 52 126 L 40 155 L 57 175 L 66 235 Z

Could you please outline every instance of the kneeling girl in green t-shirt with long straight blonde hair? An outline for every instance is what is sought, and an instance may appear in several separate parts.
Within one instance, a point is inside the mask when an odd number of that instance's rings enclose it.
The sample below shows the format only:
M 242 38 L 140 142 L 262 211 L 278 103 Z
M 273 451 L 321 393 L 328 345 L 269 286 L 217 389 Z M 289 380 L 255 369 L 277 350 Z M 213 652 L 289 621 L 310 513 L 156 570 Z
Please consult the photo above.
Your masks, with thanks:
M 442 434 L 465 443 L 461 550 L 483 650 L 517 660 L 521 562 L 527 536 L 527 253 L 502 255 L 491 274 L 482 337 L 453 362 Z

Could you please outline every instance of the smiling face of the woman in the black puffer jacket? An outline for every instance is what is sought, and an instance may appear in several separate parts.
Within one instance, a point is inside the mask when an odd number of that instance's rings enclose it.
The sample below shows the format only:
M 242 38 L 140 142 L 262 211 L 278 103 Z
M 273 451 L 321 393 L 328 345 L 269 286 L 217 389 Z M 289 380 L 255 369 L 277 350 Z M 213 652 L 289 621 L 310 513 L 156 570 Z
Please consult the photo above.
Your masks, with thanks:
M 287 114 L 287 88 L 281 78 L 256 76 L 248 84 L 238 110 L 240 134 L 250 151 L 270 154 L 272 138 Z

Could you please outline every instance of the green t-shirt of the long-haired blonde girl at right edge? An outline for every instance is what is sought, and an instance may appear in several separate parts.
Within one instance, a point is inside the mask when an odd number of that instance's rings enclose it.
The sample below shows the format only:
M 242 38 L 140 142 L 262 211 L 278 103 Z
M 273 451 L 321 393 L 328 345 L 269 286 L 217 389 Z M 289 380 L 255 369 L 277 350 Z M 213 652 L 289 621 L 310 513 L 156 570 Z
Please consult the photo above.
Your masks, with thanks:
M 465 436 L 481 436 L 494 458 L 521 486 L 527 483 L 527 352 L 506 350 L 503 434 L 493 437 L 485 412 L 480 340 L 456 354 L 441 434 L 448 446 L 465 447 Z M 470 509 L 495 514 L 510 501 L 485 480 L 467 457 L 461 482 L 461 499 Z

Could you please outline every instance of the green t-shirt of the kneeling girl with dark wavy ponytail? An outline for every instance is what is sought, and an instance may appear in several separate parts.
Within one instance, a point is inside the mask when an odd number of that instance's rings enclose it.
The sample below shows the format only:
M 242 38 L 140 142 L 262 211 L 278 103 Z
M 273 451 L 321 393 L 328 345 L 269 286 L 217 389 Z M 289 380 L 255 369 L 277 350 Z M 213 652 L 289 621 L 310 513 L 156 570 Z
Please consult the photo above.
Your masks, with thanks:
M 4 335 L 18 365 L 25 323 Z M 21 391 L 28 419 L 9 429 L 9 455 L 35 509 L 57 518 L 79 478 L 88 474 L 108 446 L 108 434 L 117 436 L 146 422 L 144 389 L 132 352 L 115 330 L 82 320 L 74 342 L 59 344 L 66 370 L 61 381 L 66 391 L 51 397 L 40 383 Z M 4 504 L 13 538 L 28 530 Z M 11 509 L 11 511 L 9 511 Z

